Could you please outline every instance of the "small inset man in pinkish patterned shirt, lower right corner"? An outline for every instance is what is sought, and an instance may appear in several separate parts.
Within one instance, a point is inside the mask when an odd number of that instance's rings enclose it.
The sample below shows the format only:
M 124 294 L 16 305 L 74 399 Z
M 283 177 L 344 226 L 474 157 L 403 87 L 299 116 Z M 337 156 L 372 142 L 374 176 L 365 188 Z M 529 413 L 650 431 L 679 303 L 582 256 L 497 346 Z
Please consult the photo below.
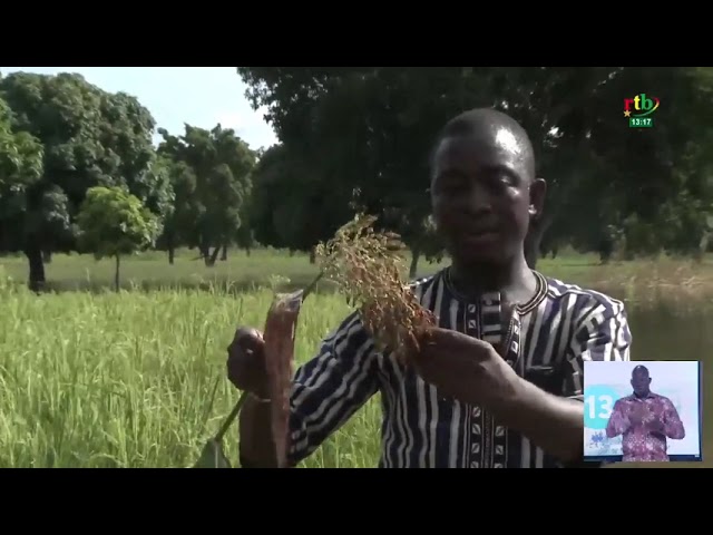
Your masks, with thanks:
M 667 461 L 666 437 L 681 440 L 686 436 L 671 400 L 651 391 L 651 379 L 645 366 L 634 368 L 634 393 L 614 403 L 606 426 L 608 438 L 624 435 L 623 461 Z

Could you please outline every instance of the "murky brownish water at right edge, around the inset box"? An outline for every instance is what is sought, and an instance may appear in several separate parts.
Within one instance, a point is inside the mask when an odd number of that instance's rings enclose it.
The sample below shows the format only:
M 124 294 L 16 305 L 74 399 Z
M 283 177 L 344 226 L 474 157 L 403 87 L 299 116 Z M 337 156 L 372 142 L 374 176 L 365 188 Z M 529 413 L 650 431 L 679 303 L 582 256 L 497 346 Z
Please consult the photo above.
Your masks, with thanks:
M 656 467 L 713 467 L 713 302 L 638 307 L 629 303 L 627 309 L 633 360 L 699 360 L 703 369 L 703 463 L 656 464 Z M 653 382 L 652 390 L 656 390 Z

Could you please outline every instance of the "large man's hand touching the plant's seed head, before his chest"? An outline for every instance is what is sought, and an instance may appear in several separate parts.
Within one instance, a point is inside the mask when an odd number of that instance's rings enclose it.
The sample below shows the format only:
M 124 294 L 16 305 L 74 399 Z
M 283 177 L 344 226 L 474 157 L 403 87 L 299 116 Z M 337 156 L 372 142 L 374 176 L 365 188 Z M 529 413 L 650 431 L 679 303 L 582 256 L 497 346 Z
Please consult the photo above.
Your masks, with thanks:
M 514 399 L 519 378 L 488 342 L 448 329 L 429 329 L 410 361 L 439 393 L 492 407 Z

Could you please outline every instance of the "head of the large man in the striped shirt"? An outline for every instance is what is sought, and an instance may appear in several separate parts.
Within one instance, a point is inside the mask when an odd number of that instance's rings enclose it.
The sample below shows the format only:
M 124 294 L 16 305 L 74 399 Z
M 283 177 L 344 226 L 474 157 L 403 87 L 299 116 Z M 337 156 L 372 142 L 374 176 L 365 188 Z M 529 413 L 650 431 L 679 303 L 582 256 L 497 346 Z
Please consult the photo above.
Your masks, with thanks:
M 500 111 L 466 111 L 437 139 L 431 163 L 433 218 L 455 260 L 506 264 L 522 254 L 545 189 L 545 181 L 535 176 L 527 133 Z

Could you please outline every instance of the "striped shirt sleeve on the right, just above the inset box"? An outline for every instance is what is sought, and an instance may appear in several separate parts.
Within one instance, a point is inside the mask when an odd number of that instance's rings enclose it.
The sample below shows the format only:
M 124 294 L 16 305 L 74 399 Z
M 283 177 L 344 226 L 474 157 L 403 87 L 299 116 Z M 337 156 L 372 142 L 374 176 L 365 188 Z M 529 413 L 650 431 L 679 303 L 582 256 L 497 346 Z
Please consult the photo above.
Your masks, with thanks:
M 585 361 L 631 360 L 632 333 L 624 303 L 604 295 L 578 317 L 565 364 L 563 396 L 584 401 Z

